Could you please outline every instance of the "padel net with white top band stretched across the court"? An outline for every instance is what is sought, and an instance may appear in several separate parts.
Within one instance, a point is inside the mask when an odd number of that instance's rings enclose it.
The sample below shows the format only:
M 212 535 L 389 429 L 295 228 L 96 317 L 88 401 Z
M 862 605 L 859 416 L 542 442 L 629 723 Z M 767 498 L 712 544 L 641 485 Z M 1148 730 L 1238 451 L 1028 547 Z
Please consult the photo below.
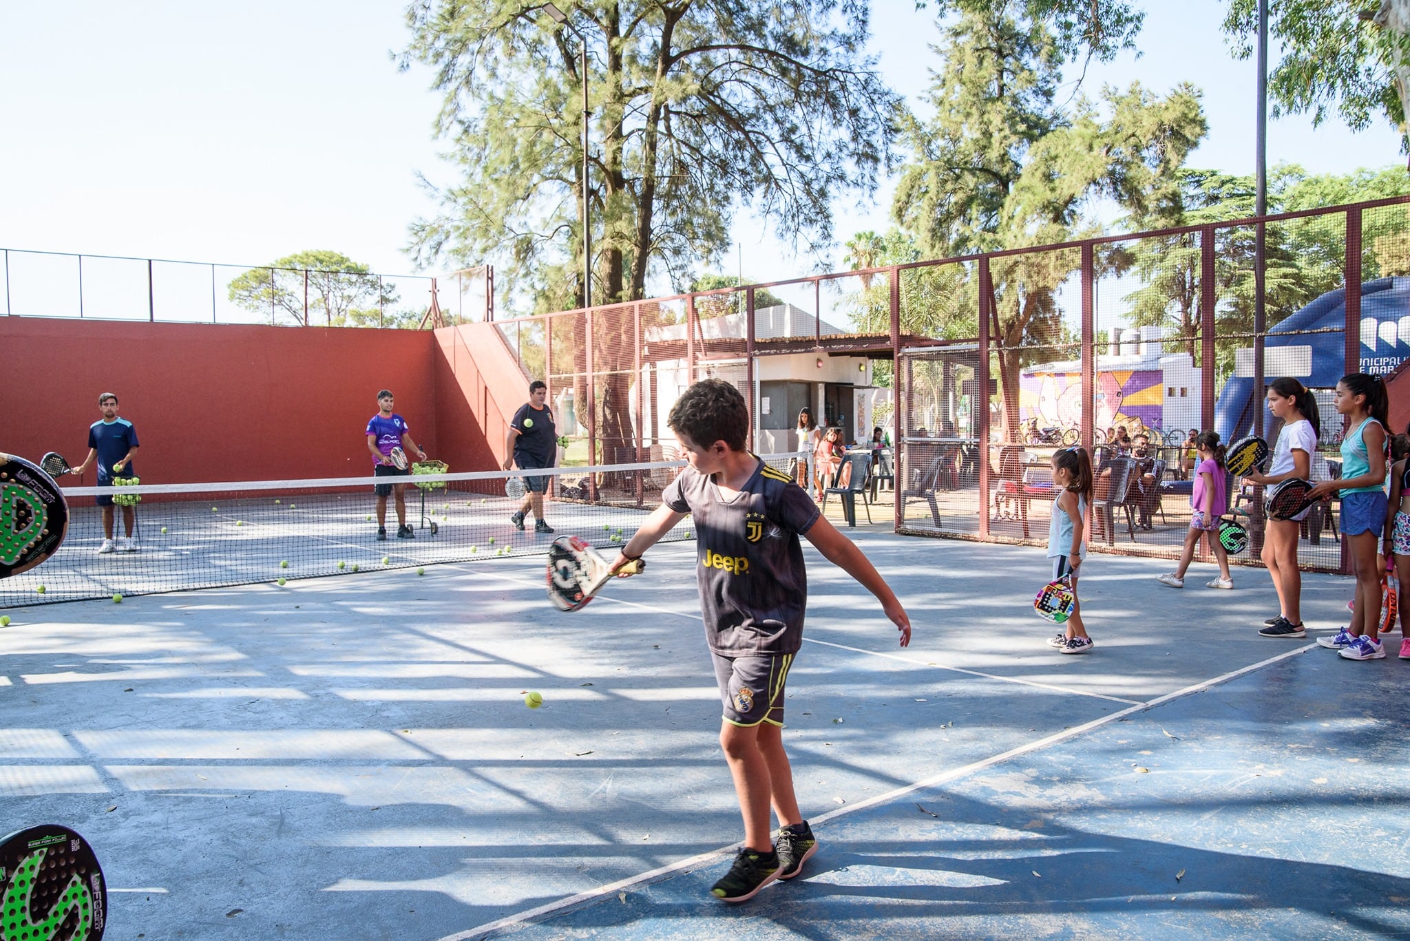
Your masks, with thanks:
M 792 471 L 795 454 L 766 454 Z M 560 467 L 548 481 L 544 518 L 556 535 L 577 535 L 599 550 L 622 546 L 660 505 L 682 460 L 596 467 Z M 118 540 L 100 553 L 103 526 L 96 497 L 117 488 L 70 487 L 69 532 L 42 566 L 0 580 L 0 608 L 140 595 L 255 583 L 314 578 L 447 561 L 544 556 L 554 536 L 510 522 L 516 501 L 509 478 L 541 471 L 416 474 L 406 480 L 406 522 L 415 538 L 399 539 L 388 499 L 386 540 L 376 540 L 372 487 L 388 477 L 140 484 L 123 487 L 134 509 L 137 550 Z M 123 536 L 123 506 L 114 508 Z M 666 540 L 691 539 L 682 521 Z M 540 563 L 534 563 L 537 566 Z

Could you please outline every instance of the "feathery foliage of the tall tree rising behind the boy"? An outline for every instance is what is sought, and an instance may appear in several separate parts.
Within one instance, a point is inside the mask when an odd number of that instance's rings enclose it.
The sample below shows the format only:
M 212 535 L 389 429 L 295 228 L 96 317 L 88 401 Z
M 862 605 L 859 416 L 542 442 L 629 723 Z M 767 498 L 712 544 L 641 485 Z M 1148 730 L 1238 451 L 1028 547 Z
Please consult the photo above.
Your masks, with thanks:
M 429 264 L 502 260 L 539 309 L 578 306 L 584 79 L 592 110 L 594 299 L 685 284 L 729 244 L 736 207 L 808 250 L 830 202 L 871 192 L 897 97 L 864 52 L 854 0 L 560 3 L 591 51 L 517 0 L 419 0 L 403 61 L 434 71 L 437 133 L 461 182 L 412 226 Z

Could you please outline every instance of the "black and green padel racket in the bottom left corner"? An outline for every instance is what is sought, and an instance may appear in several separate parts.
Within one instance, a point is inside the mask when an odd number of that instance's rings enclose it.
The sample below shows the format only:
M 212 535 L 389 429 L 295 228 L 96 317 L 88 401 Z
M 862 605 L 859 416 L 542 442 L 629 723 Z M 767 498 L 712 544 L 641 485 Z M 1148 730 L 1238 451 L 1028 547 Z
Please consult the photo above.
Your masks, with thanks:
M 87 841 L 47 824 L 0 844 L 0 938 L 97 941 L 107 925 L 107 886 Z

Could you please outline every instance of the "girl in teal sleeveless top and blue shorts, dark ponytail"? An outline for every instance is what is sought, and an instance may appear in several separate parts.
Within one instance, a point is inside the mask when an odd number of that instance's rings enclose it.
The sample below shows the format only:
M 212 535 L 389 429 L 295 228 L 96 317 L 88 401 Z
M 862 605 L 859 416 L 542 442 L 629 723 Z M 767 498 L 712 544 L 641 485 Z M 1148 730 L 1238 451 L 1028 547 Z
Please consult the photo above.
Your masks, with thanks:
M 1390 409 L 1386 384 L 1379 375 L 1344 375 L 1337 384 L 1335 405 L 1352 429 L 1341 446 L 1341 480 L 1321 481 L 1308 497 L 1330 497 L 1332 491 L 1341 495 L 1341 536 L 1351 549 L 1356 602 L 1351 624 L 1335 636 L 1318 638 L 1317 643 L 1340 650 L 1348 660 L 1380 660 L 1386 652 L 1378 638 L 1380 571 L 1376 557 L 1386 525 L 1386 412 Z

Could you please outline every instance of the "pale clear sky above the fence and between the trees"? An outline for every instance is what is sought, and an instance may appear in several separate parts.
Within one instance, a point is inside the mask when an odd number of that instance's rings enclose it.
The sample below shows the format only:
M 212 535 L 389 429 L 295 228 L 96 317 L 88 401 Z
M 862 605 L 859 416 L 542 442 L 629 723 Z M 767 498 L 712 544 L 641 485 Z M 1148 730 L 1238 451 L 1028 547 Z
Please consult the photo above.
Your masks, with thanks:
M 939 40 L 914 0 L 876 0 L 874 49 L 918 102 Z M 1139 79 L 1204 90 L 1191 165 L 1252 172 L 1255 76 L 1218 31 L 1222 0 L 1146 0 L 1144 55 L 1087 87 Z M 305 248 L 410 274 L 406 226 L 434 210 L 416 174 L 450 179 L 420 68 L 398 72 L 403 4 L 245 0 L 0 6 L 0 247 L 257 265 Z M 1269 128 L 1269 161 L 1313 171 L 1403 164 L 1389 127 L 1352 135 L 1301 117 Z M 838 241 L 885 229 L 891 185 L 838 202 Z M 840 267 L 795 257 L 742 214 L 749 279 Z M 733 272 L 736 258 L 723 267 Z

